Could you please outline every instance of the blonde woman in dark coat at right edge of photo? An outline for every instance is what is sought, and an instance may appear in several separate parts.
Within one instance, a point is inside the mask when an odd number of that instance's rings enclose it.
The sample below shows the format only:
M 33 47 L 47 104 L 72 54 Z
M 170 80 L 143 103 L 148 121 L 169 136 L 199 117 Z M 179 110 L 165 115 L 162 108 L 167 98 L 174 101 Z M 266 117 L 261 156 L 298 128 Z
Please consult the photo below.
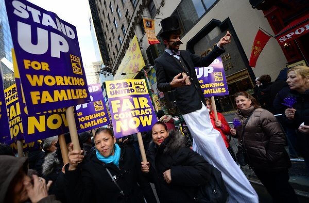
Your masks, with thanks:
M 298 149 L 305 159 L 309 170 L 309 67 L 296 66 L 288 72 L 288 79 L 291 91 L 287 96 L 296 99 L 293 108 L 285 111 L 285 122 L 297 130 Z

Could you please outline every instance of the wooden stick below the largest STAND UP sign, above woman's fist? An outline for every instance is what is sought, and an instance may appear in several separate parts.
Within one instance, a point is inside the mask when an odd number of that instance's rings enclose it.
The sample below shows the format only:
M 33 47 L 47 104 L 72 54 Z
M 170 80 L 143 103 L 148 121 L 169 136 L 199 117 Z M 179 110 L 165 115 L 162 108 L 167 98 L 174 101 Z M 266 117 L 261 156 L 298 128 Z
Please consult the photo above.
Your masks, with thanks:
M 66 108 L 66 120 L 69 124 L 70 137 L 73 143 L 73 150 L 81 150 L 78 141 L 78 134 L 73 113 L 73 106 Z

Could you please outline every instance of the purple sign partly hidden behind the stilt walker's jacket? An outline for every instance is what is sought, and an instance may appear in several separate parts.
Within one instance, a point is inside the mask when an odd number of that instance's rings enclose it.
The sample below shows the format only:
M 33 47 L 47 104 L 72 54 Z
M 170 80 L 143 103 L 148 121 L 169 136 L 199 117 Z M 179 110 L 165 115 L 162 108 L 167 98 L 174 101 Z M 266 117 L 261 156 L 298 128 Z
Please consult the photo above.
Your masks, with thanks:
M 208 67 L 195 67 L 205 97 L 228 95 L 222 59 L 216 58 Z

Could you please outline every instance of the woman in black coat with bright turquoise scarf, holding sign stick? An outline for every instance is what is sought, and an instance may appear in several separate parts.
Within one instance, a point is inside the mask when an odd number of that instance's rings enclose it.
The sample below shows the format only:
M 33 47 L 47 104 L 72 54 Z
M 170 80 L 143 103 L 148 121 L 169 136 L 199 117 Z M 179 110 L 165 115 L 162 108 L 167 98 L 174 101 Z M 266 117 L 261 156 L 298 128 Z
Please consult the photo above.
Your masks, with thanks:
M 69 146 L 70 163 L 65 166 L 65 179 L 70 202 L 144 203 L 144 196 L 147 203 L 156 203 L 134 150 L 119 147 L 108 128 L 97 130 L 94 139 L 96 152 L 84 164 L 83 150 L 73 150 L 73 144 Z

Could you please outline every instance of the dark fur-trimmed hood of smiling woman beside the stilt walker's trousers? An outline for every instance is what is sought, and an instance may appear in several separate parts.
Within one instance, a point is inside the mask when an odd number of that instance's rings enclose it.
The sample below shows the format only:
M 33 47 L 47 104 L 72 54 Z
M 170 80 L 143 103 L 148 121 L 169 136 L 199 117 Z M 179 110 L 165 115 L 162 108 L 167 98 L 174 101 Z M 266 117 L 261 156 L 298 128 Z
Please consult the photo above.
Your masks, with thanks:
M 171 130 L 169 136 L 161 144 L 163 153 L 175 153 L 181 148 L 187 147 L 187 140 L 179 131 Z

